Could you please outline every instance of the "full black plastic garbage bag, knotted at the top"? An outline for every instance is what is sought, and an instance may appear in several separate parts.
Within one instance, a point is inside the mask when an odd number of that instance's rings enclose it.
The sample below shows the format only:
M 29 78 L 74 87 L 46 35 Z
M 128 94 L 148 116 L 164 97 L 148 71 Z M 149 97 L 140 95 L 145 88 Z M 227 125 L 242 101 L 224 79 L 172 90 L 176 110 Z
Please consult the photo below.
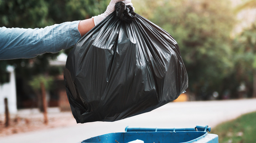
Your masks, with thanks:
M 131 7 L 121 16 L 120 11 L 113 12 L 69 53 L 64 80 L 77 123 L 116 121 L 149 112 L 187 88 L 177 42 L 135 14 Z

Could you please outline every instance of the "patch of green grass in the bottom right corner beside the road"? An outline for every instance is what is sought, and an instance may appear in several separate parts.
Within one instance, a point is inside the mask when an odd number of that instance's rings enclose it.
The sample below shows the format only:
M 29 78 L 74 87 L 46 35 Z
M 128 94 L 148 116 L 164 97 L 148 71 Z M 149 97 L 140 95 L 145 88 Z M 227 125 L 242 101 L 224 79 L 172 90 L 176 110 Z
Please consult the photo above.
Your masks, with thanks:
M 219 143 L 256 143 L 256 112 L 221 123 L 210 133 L 219 136 Z

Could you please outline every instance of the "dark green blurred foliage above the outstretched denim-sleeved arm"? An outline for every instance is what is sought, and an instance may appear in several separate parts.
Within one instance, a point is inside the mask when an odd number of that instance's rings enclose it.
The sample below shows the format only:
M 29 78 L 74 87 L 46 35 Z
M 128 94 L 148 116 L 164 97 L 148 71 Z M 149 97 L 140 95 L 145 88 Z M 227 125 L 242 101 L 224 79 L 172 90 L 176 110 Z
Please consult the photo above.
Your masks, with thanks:
M 1 0 L 0 26 L 41 28 L 101 14 L 108 0 Z

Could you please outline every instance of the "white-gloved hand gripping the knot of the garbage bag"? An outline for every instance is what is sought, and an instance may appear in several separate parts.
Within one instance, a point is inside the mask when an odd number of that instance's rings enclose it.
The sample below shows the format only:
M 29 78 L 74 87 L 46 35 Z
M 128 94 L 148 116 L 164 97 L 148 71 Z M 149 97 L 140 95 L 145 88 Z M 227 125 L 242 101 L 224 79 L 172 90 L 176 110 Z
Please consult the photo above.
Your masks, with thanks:
M 108 5 L 108 7 L 107 7 L 107 9 L 106 9 L 106 11 L 105 11 L 104 13 L 102 13 L 102 14 L 100 14 L 100 15 L 98 15 L 98 16 L 92 17 L 93 20 L 94 20 L 95 26 L 96 26 L 97 24 L 99 24 L 99 23 L 100 23 L 104 18 L 106 18 L 109 14 L 111 14 L 113 11 L 115 11 L 115 10 L 116 10 L 115 5 L 116 5 L 117 2 L 120 2 L 120 1 L 122 1 L 125 5 L 131 5 L 131 6 L 133 6 L 133 4 L 132 4 L 132 2 L 131 2 L 132 0 L 111 0 L 110 3 L 109 3 L 109 5 Z M 134 7 L 133 7 L 133 10 L 135 10 Z

